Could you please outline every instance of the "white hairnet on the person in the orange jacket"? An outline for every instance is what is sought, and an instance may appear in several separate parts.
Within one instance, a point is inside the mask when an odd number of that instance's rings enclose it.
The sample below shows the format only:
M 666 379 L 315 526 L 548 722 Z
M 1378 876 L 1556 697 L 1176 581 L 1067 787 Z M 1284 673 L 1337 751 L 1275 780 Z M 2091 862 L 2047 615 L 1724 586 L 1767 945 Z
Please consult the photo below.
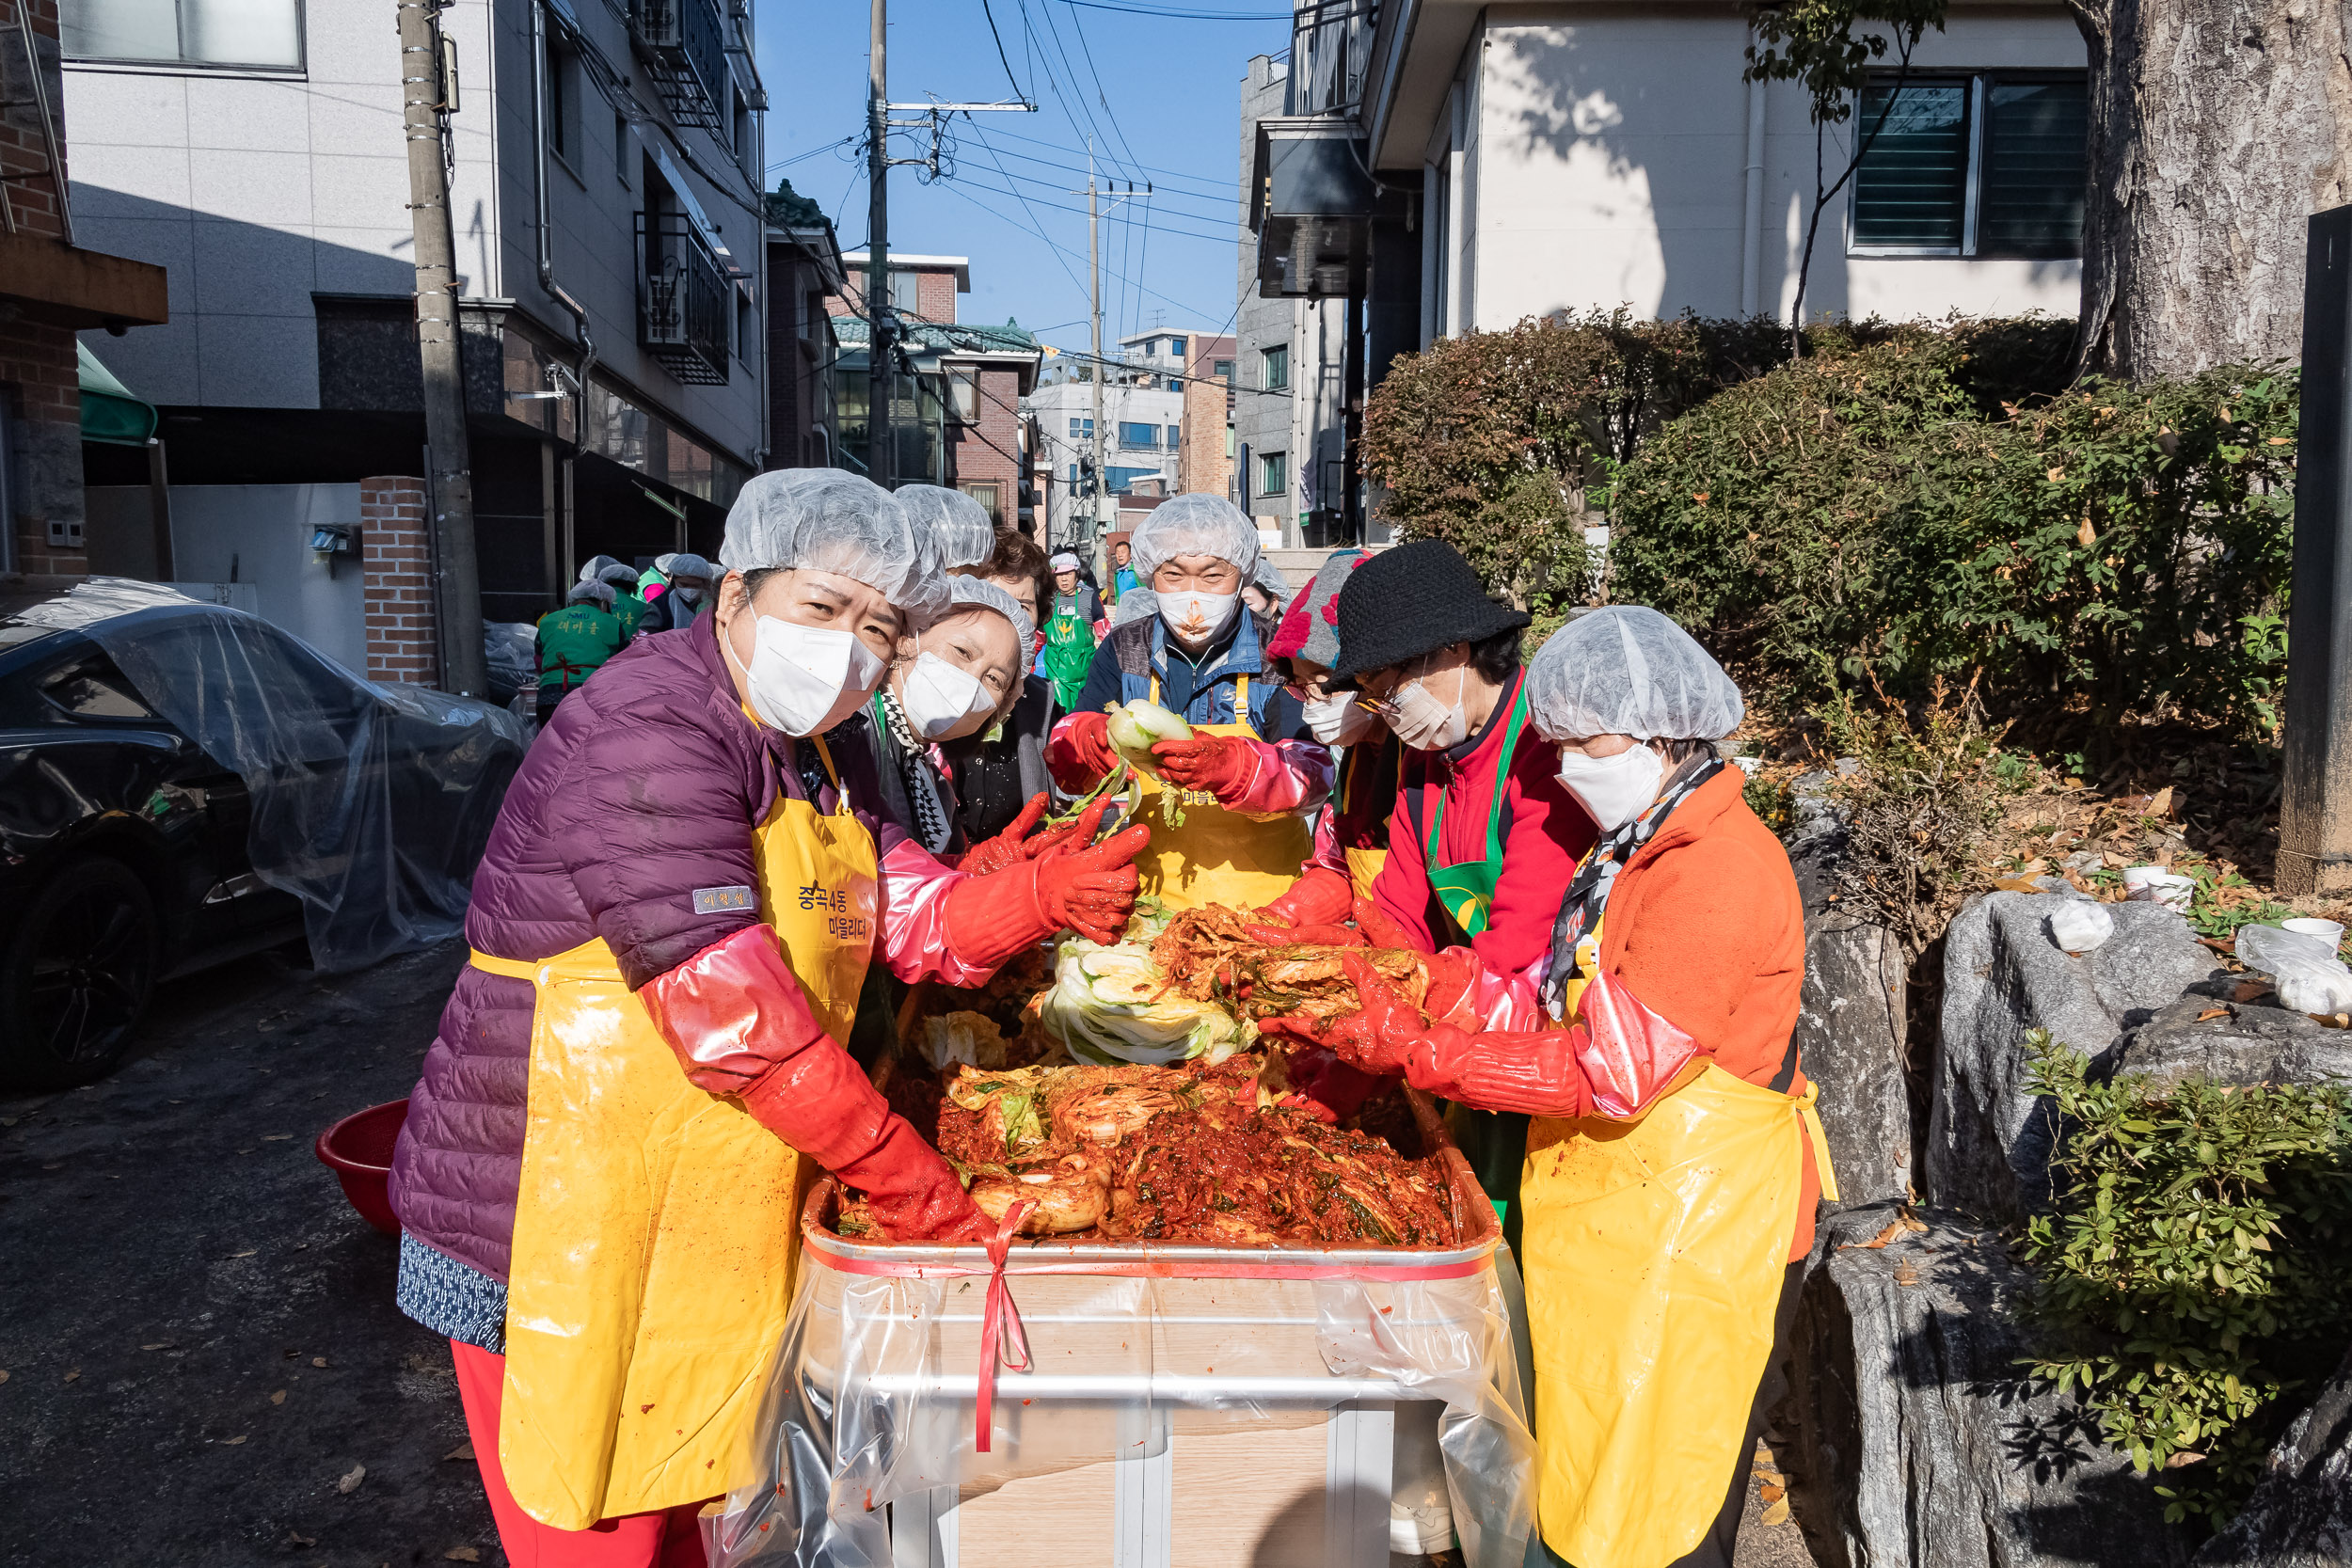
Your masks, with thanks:
M 1722 741 L 1745 712 L 1715 656 L 1646 604 L 1569 621 L 1526 665 L 1526 717 L 1548 741 Z

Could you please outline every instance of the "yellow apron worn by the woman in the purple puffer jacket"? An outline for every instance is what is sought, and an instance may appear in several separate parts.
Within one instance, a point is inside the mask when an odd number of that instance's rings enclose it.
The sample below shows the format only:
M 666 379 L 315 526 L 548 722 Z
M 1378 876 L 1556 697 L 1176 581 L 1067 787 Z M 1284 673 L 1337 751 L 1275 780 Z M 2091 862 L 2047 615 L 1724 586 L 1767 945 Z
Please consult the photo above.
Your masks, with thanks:
M 847 1039 L 875 945 L 873 835 L 847 799 L 833 816 L 781 799 L 753 851 L 767 924 L 826 1032 Z M 541 964 L 473 961 L 539 987 L 506 1288 L 506 1483 L 557 1530 L 715 1497 L 755 1469 L 750 1425 L 816 1164 L 687 1081 L 602 940 Z

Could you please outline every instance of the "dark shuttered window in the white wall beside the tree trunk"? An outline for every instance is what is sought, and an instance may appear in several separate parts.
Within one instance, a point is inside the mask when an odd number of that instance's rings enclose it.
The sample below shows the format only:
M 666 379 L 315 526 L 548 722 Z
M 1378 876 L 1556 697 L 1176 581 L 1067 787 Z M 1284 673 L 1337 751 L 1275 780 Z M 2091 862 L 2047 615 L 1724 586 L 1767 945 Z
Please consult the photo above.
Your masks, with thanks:
M 2089 85 L 2079 71 L 1915 75 L 1863 89 L 1856 256 L 2082 256 Z

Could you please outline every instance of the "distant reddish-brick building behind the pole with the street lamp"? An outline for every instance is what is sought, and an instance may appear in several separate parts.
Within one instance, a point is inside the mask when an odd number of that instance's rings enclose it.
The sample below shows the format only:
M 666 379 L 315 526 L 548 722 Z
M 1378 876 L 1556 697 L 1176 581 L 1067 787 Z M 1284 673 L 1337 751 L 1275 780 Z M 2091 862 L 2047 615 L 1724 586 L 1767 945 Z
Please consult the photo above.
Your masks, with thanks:
M 847 282 L 826 301 L 840 355 L 833 400 L 840 411 L 840 463 L 868 470 L 868 313 L 866 252 L 842 256 Z M 1018 522 L 1030 505 L 1023 484 L 1030 458 L 1021 400 L 1037 386 L 1044 348 L 1021 322 L 988 327 L 957 320 L 955 299 L 971 294 L 967 256 L 891 256 L 889 313 L 906 353 L 891 395 L 891 468 L 882 482 L 946 484 L 997 520 Z

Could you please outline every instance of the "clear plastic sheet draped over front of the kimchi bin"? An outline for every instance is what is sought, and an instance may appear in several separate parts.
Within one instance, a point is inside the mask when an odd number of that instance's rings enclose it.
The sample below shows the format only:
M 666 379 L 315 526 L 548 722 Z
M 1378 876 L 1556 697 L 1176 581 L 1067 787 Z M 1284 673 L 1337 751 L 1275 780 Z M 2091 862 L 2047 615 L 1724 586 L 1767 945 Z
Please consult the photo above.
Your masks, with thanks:
M 1169 1258 L 1094 1274 L 1070 1272 L 1082 1265 L 1051 1246 L 1018 1248 L 1002 1279 L 1035 1371 L 995 1373 L 988 1453 L 976 1446 L 976 1363 L 990 1267 L 981 1248 L 920 1251 L 962 1262 L 868 1274 L 818 1248 L 802 1253 L 753 1469 L 703 1514 L 713 1568 L 889 1568 L 891 1528 L 936 1528 L 927 1521 L 955 1500 L 948 1488 L 971 1497 L 1108 1458 L 1167 1462 L 1195 1434 L 1296 1427 L 1388 1401 L 1442 1408 L 1437 1443 L 1463 1559 L 1524 1561 L 1536 1443 L 1510 1309 L 1517 1276 L 1501 1248 L 1449 1279 L 1367 1276 L 1414 1267 L 1317 1269 L 1317 1255 L 1298 1251 L 1235 1253 L 1242 1267 L 1277 1258 L 1284 1279 L 1183 1276 Z M 1341 1455 L 1338 1432 L 1327 1441 Z M 1383 1516 L 1385 1561 L 1385 1443 L 1374 1453 L 1352 1490 L 1371 1493 Z M 1312 1481 L 1324 1481 L 1322 1462 Z M 927 1559 L 917 1544 L 896 1561 Z

